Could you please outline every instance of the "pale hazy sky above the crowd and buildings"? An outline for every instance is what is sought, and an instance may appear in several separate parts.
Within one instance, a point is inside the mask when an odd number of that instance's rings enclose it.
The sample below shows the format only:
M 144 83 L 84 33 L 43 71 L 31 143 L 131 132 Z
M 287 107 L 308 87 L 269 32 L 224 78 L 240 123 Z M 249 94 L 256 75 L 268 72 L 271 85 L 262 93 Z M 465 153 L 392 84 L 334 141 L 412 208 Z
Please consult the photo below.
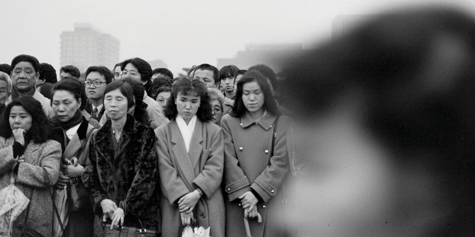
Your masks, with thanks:
M 330 36 L 337 15 L 428 3 L 475 15 L 474 0 L 0 0 L 0 63 L 29 54 L 59 71 L 61 32 L 89 22 L 120 40 L 121 61 L 161 59 L 177 74 L 193 64 L 216 65 L 248 43 L 313 46 Z

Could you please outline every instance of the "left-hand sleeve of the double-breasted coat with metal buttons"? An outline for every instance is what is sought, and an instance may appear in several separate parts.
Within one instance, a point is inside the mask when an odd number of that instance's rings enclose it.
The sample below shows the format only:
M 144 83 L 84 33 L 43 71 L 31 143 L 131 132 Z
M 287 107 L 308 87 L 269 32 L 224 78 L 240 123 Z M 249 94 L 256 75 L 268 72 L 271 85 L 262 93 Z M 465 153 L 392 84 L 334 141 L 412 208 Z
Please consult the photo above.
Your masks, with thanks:
M 251 191 L 251 183 L 241 167 L 239 167 L 228 118 L 230 118 L 229 115 L 226 115 L 221 119 L 224 138 L 224 180 L 226 184 L 225 191 L 228 193 L 229 201 L 234 201 L 243 193 Z

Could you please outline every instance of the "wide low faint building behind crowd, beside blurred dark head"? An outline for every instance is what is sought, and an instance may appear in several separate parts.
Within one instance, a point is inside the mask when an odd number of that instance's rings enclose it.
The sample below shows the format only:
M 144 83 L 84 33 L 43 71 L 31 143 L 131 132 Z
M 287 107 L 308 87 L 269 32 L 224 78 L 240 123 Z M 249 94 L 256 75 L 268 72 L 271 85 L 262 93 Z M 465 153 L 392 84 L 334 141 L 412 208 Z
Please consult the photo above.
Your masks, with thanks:
M 238 51 L 234 58 L 218 58 L 218 69 L 226 65 L 236 65 L 247 69 L 256 64 L 266 64 L 276 73 L 285 56 L 302 53 L 302 44 L 247 44 L 245 51 Z

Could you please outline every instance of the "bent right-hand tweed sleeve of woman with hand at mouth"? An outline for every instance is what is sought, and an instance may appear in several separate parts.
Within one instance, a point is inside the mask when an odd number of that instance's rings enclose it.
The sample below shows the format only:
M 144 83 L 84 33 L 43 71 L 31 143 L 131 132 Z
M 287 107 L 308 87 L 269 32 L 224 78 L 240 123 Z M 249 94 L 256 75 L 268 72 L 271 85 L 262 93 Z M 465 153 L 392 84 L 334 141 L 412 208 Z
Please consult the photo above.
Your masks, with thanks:
M 26 162 L 19 163 L 17 182 L 33 187 L 53 186 L 59 173 L 59 160 L 61 159 L 61 145 L 57 141 L 48 140 L 42 143 L 41 153 L 39 154 L 39 165 L 33 165 Z M 25 155 L 28 154 L 25 151 Z

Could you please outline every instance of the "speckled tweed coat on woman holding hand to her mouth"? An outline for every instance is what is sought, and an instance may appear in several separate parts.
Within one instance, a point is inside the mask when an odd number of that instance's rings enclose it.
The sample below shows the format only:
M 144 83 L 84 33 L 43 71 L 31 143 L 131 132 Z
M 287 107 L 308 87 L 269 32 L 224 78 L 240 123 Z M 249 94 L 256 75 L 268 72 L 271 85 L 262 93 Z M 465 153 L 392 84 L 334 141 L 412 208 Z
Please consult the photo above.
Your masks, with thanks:
M 0 189 L 10 184 L 11 168 L 16 163 L 13 158 L 12 137 L 0 137 Z M 24 226 L 26 209 L 13 224 L 12 236 L 19 236 L 22 229 L 34 229 L 44 236 L 51 236 L 53 220 L 53 201 L 51 187 L 56 183 L 59 173 L 61 145 L 47 140 L 38 144 L 30 141 L 23 153 L 25 162 L 19 163 L 16 186 L 27 196 L 31 196 L 28 220 Z

